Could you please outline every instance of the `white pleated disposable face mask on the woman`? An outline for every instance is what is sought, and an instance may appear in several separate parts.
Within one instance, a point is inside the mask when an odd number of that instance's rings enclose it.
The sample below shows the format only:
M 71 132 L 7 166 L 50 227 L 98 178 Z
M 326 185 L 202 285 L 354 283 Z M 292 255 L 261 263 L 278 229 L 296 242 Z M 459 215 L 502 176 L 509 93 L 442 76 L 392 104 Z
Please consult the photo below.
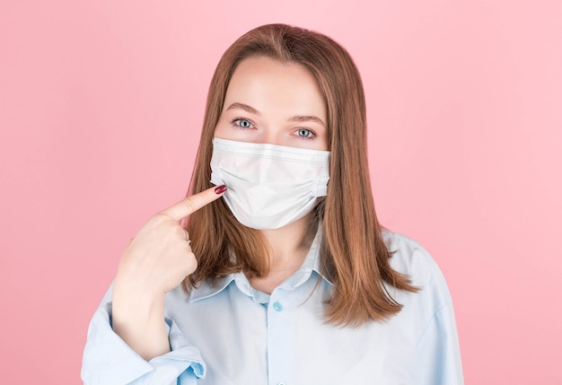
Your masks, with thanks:
M 215 137 L 211 182 L 240 223 L 278 229 L 310 213 L 328 190 L 329 151 Z

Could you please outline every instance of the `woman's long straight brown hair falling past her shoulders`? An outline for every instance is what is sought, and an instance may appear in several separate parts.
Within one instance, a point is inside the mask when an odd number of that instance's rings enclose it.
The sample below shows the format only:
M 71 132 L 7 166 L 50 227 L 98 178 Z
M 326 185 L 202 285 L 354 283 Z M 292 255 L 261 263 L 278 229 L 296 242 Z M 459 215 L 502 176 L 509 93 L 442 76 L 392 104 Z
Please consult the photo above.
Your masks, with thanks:
M 246 57 L 265 56 L 294 62 L 315 76 L 328 110 L 331 152 L 328 194 L 315 208 L 321 219 L 322 273 L 334 284 L 325 317 L 333 324 L 361 325 L 398 313 L 401 305 L 384 283 L 410 292 L 417 288 L 389 263 L 381 226 L 373 205 L 366 156 L 366 113 L 363 84 L 353 60 L 334 40 L 285 24 L 256 28 L 224 52 L 211 81 L 203 131 L 189 194 L 210 188 L 215 126 L 234 69 Z M 223 199 L 192 214 L 188 221 L 198 269 L 183 282 L 189 290 L 207 278 L 243 271 L 268 274 L 268 248 L 260 232 L 241 225 Z M 231 251 L 235 258 L 231 258 Z

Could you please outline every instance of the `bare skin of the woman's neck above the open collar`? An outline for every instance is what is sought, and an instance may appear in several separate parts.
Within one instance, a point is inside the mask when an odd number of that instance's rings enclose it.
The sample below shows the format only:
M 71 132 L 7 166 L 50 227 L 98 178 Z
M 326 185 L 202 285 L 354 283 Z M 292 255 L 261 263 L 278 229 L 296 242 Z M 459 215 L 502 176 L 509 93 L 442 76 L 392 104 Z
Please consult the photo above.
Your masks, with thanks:
M 310 215 L 280 229 L 261 231 L 270 250 L 269 272 L 267 276 L 250 278 L 254 288 L 271 293 L 303 265 L 314 238 L 314 234 L 308 233 Z

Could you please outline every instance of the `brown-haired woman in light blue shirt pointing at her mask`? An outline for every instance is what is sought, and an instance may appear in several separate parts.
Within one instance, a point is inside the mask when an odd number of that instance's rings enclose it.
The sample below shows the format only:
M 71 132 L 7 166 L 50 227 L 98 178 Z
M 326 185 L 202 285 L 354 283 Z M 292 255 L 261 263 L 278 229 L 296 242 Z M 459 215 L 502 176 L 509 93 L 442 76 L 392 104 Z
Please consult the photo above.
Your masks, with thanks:
M 282 24 L 234 42 L 209 90 L 190 197 L 123 252 L 83 381 L 462 383 L 443 276 L 377 222 L 365 144 L 344 48 Z

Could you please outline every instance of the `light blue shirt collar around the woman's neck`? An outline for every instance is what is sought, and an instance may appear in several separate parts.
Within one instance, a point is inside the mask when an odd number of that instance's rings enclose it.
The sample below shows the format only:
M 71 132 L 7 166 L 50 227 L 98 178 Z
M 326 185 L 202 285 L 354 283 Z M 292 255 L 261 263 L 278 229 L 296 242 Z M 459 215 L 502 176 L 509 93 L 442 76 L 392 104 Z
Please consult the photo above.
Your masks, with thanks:
M 328 277 L 321 273 L 321 241 L 322 233 L 321 225 L 319 225 L 318 231 L 316 232 L 314 240 L 312 241 L 311 249 L 309 249 L 306 258 L 304 258 L 303 265 L 296 272 L 294 272 L 293 276 L 289 276 L 285 280 L 285 282 L 280 284 L 279 288 L 287 291 L 292 291 L 301 284 L 304 284 L 312 276 L 312 272 L 315 272 L 318 276 L 321 276 L 322 279 L 325 280 L 328 284 L 333 285 L 329 281 Z M 246 276 L 240 272 L 218 278 L 215 284 L 212 284 L 212 280 L 207 279 L 197 289 L 191 290 L 191 293 L 189 293 L 189 302 L 204 300 L 217 293 L 221 293 L 233 281 L 242 293 L 249 296 L 253 295 L 253 289 L 250 286 L 250 282 L 248 282 Z

